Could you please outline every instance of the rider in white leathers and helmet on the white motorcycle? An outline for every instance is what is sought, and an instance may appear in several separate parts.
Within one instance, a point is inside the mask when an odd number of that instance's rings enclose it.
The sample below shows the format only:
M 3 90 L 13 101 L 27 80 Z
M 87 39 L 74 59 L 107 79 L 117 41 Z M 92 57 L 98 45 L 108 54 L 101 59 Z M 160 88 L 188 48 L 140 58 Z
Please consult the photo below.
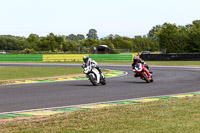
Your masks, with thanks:
M 88 58 L 87 55 L 83 56 L 82 68 L 85 68 L 85 67 L 90 66 L 90 65 L 92 67 L 96 68 L 99 71 L 100 74 L 102 73 L 101 70 L 99 69 L 99 67 L 97 67 L 97 63 L 94 60 L 92 60 L 91 58 Z

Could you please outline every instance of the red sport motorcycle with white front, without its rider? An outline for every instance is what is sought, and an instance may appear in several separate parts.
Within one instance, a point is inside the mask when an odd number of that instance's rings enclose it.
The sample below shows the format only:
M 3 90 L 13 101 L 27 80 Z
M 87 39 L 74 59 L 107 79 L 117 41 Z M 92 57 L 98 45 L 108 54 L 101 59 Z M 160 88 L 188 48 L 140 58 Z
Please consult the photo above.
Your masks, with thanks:
M 147 83 L 153 82 L 152 73 L 149 73 L 149 70 L 142 63 L 135 64 L 135 73 Z

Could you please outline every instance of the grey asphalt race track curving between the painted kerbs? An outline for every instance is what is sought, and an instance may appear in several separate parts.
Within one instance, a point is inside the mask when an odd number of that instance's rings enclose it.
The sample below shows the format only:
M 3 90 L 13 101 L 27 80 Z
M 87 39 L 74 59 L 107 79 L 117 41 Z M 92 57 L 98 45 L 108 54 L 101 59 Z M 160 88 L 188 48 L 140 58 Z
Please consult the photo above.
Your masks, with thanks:
M 80 64 L 0 63 L 0 66 L 80 67 Z M 88 80 L 0 85 L 0 113 L 200 91 L 200 67 L 150 66 L 155 81 L 150 84 L 134 78 L 131 66 L 100 65 L 100 68 L 128 74 L 107 78 L 105 86 L 93 86 Z

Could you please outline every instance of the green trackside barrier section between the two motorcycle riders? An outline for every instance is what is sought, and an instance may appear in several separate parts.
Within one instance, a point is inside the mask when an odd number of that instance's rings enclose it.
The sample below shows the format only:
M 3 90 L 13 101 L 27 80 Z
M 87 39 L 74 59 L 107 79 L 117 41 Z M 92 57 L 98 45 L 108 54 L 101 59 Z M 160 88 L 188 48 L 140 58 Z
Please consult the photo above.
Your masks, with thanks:
M 132 54 L 90 54 L 95 61 L 132 61 Z

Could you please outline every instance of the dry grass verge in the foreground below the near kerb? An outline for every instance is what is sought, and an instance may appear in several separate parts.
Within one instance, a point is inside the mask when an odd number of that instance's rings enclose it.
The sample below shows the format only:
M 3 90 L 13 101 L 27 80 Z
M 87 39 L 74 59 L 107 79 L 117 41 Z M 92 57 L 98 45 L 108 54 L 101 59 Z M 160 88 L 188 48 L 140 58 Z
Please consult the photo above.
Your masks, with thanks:
M 200 131 L 200 96 L 75 111 L 1 122 L 1 132 L 194 133 Z

